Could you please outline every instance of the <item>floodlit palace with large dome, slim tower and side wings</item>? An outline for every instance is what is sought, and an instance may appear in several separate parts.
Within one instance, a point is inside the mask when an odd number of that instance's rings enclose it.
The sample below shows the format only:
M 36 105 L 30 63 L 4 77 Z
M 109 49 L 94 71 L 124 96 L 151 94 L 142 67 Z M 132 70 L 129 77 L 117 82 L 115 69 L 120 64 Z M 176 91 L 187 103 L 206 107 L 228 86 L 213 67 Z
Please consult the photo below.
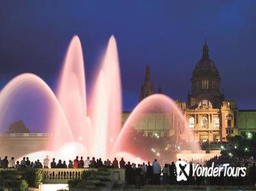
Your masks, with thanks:
M 176 100 L 194 134 L 183 134 L 170 113 L 147 113 L 134 127 L 149 136 L 172 136 L 185 141 L 227 141 L 227 136 L 256 132 L 256 110 L 238 110 L 234 100 L 225 99 L 220 89 L 221 78 L 218 69 L 209 57 L 206 40 L 203 55 L 192 72 L 192 91 L 187 102 Z M 154 93 L 149 65 L 146 66 L 145 80 L 141 87 L 140 99 Z M 162 93 L 159 87 L 158 93 Z M 123 123 L 129 113 L 123 113 Z

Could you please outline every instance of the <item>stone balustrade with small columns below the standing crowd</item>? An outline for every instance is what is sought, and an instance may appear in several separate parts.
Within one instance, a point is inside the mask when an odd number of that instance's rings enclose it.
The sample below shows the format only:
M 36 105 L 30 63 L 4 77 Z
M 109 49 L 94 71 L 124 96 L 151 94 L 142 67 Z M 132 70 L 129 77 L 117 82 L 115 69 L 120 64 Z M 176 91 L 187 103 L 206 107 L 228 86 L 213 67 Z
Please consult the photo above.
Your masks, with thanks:
M 43 183 L 67 183 L 70 179 L 81 179 L 83 171 L 98 171 L 97 168 L 42 168 L 44 172 Z M 109 168 L 110 175 L 105 178 L 117 183 L 125 182 L 125 169 Z

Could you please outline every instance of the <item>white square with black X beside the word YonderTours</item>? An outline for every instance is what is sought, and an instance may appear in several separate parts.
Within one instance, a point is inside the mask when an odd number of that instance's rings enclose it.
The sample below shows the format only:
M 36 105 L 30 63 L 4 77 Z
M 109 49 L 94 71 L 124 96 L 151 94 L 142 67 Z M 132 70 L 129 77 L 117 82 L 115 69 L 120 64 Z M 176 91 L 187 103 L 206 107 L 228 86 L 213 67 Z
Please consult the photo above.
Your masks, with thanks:
M 175 166 L 177 171 L 177 181 L 187 181 L 188 176 L 190 175 L 190 164 L 179 160 L 175 163 Z

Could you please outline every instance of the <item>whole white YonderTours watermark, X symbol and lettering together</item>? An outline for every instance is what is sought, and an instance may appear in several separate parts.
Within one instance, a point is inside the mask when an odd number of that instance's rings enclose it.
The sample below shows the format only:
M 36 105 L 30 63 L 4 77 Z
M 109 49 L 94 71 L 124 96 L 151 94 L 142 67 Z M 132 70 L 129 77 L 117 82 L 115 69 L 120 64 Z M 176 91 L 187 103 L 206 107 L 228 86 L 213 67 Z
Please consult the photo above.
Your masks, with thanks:
M 212 162 L 212 166 L 201 166 L 179 160 L 175 163 L 175 166 L 177 181 L 187 181 L 190 175 L 192 177 L 245 177 L 246 175 L 246 167 L 234 167 L 229 166 L 229 164 L 214 165 L 214 162 Z

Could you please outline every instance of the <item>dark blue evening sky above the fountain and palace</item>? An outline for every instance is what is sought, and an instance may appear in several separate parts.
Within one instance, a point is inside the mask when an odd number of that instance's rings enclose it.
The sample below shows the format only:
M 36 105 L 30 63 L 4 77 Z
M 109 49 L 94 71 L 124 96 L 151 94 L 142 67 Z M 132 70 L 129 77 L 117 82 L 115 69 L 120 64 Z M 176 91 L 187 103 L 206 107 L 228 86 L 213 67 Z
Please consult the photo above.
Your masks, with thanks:
M 185 100 L 207 38 L 225 97 L 256 108 L 256 1 L 0 1 L 0 85 L 32 72 L 55 88 L 79 35 L 90 86 L 110 35 L 118 43 L 124 109 L 138 102 L 144 68 L 155 90 Z

